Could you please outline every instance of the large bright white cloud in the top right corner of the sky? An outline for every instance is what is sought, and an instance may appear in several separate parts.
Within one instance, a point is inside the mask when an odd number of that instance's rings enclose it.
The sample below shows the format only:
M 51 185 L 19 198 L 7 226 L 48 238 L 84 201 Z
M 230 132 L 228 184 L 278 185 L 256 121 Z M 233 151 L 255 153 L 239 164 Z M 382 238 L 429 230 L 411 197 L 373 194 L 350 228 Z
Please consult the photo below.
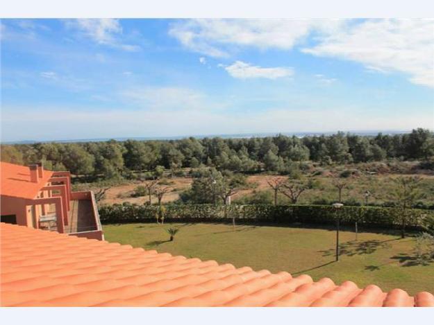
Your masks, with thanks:
M 372 20 L 328 35 L 303 52 L 364 64 L 375 71 L 399 71 L 418 85 L 434 87 L 434 21 Z

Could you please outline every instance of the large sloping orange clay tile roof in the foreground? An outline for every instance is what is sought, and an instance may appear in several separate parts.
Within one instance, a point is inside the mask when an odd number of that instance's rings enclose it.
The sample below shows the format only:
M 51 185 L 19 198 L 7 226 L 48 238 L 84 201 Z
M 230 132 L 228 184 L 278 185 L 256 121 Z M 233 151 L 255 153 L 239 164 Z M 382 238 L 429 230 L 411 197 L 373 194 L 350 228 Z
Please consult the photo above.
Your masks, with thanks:
M 374 285 L 312 281 L 0 223 L 1 306 L 434 306 Z

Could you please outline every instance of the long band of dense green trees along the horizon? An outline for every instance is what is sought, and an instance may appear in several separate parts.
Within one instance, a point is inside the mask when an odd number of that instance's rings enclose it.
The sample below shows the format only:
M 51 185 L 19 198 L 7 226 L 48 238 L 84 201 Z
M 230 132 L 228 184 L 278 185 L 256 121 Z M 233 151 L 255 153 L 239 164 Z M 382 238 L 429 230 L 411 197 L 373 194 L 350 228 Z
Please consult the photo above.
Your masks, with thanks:
M 44 161 L 52 170 L 106 179 L 132 177 L 134 171 L 165 168 L 175 175 L 181 168 L 199 166 L 256 173 L 288 173 L 294 161 L 321 164 L 359 163 L 385 159 L 429 159 L 434 155 L 434 135 L 418 128 L 408 134 L 360 136 L 337 132 L 309 137 L 253 137 L 167 141 L 101 141 L 85 143 L 33 143 L 1 146 L 1 160 L 15 164 Z

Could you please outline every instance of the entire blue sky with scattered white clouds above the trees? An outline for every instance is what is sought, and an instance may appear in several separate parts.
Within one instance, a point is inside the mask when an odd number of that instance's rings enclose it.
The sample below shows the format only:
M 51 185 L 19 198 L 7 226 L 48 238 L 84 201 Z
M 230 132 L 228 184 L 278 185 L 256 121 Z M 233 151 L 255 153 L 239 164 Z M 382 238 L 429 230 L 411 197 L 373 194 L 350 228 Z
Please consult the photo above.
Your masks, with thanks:
M 2 141 L 433 130 L 433 20 L 3 19 Z

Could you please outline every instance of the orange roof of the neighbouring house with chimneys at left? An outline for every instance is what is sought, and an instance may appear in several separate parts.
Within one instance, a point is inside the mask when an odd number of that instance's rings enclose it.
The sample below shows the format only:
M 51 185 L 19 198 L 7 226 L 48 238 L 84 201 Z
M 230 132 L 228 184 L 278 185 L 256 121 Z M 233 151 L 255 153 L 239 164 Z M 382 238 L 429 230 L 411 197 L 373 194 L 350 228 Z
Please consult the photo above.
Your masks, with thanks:
M 1 161 L 1 195 L 33 199 L 40 188 L 47 184 L 53 172 L 44 170 L 44 177 L 37 183 L 30 180 L 30 169 L 26 166 L 9 164 Z

